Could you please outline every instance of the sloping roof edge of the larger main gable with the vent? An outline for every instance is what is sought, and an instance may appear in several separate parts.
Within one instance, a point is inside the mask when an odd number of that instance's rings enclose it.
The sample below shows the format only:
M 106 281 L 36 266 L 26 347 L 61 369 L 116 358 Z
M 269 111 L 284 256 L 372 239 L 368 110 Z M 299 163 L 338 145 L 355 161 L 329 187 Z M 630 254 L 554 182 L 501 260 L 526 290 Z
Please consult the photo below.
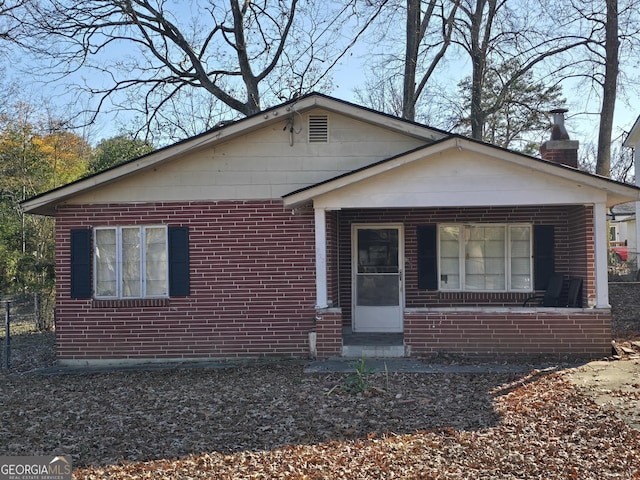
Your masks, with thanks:
M 123 177 L 139 173 L 146 169 L 151 169 L 164 162 L 171 161 L 177 156 L 207 148 L 217 143 L 227 142 L 257 129 L 281 122 L 285 115 L 292 112 L 303 113 L 313 108 L 322 108 L 330 112 L 336 112 L 424 141 L 434 141 L 448 135 L 448 133 L 443 130 L 314 92 L 266 109 L 250 117 L 224 123 L 202 134 L 36 195 L 21 202 L 21 207 L 26 213 L 54 215 L 57 204 L 77 194 L 108 185 Z

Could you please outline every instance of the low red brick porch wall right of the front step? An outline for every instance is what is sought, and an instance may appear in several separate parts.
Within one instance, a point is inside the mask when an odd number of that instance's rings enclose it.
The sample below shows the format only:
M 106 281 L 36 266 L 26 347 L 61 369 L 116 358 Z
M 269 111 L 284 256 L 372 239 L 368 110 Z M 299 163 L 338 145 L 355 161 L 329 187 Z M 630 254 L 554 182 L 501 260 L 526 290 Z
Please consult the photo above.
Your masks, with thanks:
M 411 355 L 598 358 L 611 353 L 611 312 L 590 309 L 407 311 Z

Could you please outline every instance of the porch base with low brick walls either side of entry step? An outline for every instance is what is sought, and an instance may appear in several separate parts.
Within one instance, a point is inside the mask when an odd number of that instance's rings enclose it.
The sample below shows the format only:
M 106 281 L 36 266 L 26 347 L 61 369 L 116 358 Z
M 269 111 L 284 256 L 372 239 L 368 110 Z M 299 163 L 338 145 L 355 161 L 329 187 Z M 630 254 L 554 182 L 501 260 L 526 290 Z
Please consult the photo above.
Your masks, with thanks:
M 332 357 L 509 360 L 582 359 L 611 353 L 611 310 L 595 308 L 407 309 L 401 334 L 353 334 L 341 309 L 319 309 L 316 353 Z

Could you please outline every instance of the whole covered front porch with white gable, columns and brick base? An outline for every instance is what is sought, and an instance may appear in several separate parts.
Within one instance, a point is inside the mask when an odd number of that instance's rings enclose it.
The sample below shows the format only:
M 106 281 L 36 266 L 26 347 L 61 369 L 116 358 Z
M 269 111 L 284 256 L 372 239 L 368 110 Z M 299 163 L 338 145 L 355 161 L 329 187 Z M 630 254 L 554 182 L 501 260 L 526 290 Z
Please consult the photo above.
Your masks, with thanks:
M 394 356 L 606 355 L 606 212 L 634 195 L 460 138 L 294 192 L 315 210 L 315 353 L 378 356 L 387 338 Z M 557 306 L 523 306 L 554 274 Z

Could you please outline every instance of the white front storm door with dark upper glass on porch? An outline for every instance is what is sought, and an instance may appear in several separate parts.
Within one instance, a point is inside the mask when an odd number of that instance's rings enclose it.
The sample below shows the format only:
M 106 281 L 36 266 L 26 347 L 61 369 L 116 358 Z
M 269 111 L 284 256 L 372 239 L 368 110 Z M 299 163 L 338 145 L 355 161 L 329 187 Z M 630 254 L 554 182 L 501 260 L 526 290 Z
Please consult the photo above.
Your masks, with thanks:
M 402 332 L 402 225 L 354 225 L 353 331 Z

